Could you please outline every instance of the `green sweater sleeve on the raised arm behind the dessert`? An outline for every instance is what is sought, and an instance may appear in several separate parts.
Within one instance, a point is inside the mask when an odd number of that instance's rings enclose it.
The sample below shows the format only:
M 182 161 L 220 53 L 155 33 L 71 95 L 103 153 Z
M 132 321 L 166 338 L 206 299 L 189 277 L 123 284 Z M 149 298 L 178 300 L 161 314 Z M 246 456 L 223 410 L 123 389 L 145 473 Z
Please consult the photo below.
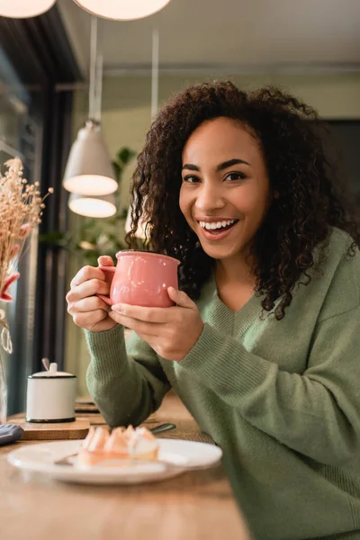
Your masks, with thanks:
M 134 332 L 126 341 L 119 325 L 85 330 L 91 362 L 86 383 L 109 426 L 138 426 L 158 409 L 170 384 L 157 355 Z

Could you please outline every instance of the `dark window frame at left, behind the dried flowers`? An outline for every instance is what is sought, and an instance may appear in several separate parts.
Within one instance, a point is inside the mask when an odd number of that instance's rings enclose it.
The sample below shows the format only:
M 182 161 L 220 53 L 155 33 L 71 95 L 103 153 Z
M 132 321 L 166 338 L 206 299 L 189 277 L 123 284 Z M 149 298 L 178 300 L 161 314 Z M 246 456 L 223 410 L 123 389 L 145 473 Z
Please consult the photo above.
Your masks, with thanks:
M 67 39 L 57 6 L 48 13 L 29 19 L 0 17 L 0 49 L 25 87 L 39 99 L 31 114 L 42 125 L 42 193 L 47 199 L 40 234 L 67 229 L 67 193 L 61 182 L 71 145 L 72 91 L 57 91 L 57 85 L 82 81 L 80 69 Z M 46 356 L 64 363 L 66 320 L 66 252 L 56 246 L 39 244 L 36 278 L 36 306 L 32 351 L 32 373 L 40 371 Z M 19 383 L 19 386 L 23 386 Z M 21 403 L 21 399 L 16 402 Z

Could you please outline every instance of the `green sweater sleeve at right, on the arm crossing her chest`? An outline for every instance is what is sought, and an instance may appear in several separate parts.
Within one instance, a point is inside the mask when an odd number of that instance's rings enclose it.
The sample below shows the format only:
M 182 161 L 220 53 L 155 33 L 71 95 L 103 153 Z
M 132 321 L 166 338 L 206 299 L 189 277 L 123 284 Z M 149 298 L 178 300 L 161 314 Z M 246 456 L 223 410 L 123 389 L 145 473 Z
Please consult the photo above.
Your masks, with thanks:
M 315 329 L 307 370 L 282 371 L 205 324 L 180 362 L 254 427 L 322 464 L 360 452 L 360 307 Z

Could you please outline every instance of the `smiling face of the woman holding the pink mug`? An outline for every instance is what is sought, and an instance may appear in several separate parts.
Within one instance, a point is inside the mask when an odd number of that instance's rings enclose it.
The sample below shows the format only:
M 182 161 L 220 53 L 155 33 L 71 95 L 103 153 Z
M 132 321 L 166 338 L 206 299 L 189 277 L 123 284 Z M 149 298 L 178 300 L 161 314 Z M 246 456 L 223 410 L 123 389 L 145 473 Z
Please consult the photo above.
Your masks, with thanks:
M 271 200 L 257 139 L 229 118 L 205 121 L 186 141 L 182 176 L 180 209 L 205 253 L 246 257 Z

